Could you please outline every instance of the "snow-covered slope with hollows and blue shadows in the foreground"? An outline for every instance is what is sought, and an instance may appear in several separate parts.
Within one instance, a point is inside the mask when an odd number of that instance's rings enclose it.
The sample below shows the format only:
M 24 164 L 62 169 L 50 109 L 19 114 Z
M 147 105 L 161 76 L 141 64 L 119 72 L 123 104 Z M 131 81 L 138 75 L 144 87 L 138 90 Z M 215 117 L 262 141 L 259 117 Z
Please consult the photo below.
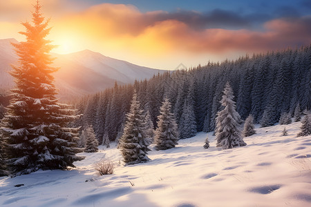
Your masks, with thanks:
M 300 122 L 256 128 L 247 146 L 202 148 L 206 133 L 171 150 L 149 152 L 146 164 L 123 166 L 120 151 L 82 153 L 76 169 L 0 178 L 0 206 L 311 206 L 311 136 L 296 137 Z M 114 144 L 111 144 L 114 146 Z M 94 164 L 115 161 L 114 175 Z M 15 187 L 15 185 L 23 186 Z

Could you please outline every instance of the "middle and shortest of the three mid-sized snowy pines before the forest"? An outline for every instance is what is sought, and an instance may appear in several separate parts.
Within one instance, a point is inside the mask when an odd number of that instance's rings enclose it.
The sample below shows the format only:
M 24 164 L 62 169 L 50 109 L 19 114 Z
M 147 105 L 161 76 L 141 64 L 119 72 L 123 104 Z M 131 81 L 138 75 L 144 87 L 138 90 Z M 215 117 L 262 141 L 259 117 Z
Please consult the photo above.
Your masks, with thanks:
M 156 150 L 167 150 L 178 144 L 178 128 L 175 115 L 171 112 L 169 99 L 164 99 L 158 116 L 158 128 L 154 137 Z

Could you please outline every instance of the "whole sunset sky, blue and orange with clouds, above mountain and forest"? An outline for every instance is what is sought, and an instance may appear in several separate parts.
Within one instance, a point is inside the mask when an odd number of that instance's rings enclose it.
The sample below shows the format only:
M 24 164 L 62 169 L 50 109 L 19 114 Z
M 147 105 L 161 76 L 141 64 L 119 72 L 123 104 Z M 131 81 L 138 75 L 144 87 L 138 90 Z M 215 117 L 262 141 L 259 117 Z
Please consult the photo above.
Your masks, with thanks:
M 48 39 L 67 54 L 93 50 L 173 70 L 311 43 L 310 0 L 41 0 Z M 35 0 L 0 1 L 0 39 L 31 21 Z

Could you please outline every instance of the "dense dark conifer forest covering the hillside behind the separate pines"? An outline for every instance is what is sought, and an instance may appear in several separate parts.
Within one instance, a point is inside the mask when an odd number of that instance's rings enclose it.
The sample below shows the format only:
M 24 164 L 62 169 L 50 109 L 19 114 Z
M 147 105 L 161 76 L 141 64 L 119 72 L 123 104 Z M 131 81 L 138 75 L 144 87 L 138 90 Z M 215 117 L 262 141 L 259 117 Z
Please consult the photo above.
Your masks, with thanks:
M 75 103 L 83 116 L 74 125 L 82 129 L 93 126 L 99 141 L 105 131 L 111 141 L 120 138 L 135 88 L 144 111 L 149 110 L 154 128 L 161 103 L 168 98 L 181 139 L 199 131 L 213 131 L 227 81 L 242 119 L 252 114 L 259 123 L 265 113 L 265 123 L 275 124 L 283 113 L 293 115 L 298 104 L 301 110 L 310 110 L 311 46 L 165 72 L 127 86 L 115 83 L 113 88 Z

